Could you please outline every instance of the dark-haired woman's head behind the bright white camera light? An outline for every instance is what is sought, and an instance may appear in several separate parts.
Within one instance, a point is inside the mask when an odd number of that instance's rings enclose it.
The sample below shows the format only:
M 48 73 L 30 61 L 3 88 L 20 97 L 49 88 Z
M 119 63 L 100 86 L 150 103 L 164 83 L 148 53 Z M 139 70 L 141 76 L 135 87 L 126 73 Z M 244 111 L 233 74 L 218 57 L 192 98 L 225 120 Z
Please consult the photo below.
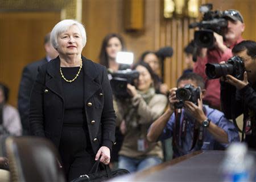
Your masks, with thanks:
M 125 43 L 121 35 L 110 33 L 104 37 L 101 45 L 100 64 L 106 66 L 109 71 L 127 69 L 127 65 L 115 62 L 117 52 L 125 50 Z

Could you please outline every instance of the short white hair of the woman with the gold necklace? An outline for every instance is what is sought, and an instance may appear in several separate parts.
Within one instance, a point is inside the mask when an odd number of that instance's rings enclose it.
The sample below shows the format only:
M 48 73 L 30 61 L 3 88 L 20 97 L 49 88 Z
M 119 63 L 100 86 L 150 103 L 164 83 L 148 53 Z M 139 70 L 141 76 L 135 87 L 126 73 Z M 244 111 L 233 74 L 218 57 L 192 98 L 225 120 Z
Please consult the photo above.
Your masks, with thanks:
M 60 33 L 63 33 L 69 29 L 69 27 L 76 25 L 81 33 L 82 36 L 82 47 L 86 44 L 86 32 L 84 26 L 77 22 L 76 20 L 62 20 L 61 22 L 57 23 L 55 27 L 53 27 L 51 31 L 51 43 L 53 48 L 57 49 L 58 43 L 57 43 L 57 37 L 60 35 Z

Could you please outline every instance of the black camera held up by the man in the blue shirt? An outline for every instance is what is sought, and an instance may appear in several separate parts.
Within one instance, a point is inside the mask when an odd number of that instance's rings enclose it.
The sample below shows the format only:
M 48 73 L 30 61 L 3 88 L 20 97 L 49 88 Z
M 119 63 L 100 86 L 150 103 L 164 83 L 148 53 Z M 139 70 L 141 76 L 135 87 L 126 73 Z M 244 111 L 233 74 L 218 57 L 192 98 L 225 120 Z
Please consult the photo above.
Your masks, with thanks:
M 178 88 L 176 90 L 176 98 L 179 100 L 175 103 L 175 108 L 183 108 L 184 101 L 192 101 L 192 103 L 197 105 L 197 100 L 200 98 L 200 87 L 194 87 L 191 84 L 185 84 L 183 88 Z

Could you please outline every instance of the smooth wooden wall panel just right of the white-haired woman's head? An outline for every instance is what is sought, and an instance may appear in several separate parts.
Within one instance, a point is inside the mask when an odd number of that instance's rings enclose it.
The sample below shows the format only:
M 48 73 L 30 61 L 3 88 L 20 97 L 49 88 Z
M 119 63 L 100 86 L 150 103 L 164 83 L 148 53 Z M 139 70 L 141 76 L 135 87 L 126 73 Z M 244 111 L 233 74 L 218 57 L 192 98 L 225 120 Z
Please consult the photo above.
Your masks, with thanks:
M 135 61 L 145 50 L 159 48 L 155 39 L 156 25 L 159 24 L 158 1 L 144 1 L 144 29 L 127 32 L 124 26 L 124 7 L 121 0 L 85 0 L 82 22 L 85 24 L 88 41 L 83 54 L 98 62 L 101 42 L 108 33 L 119 33 L 125 39 L 127 50 L 134 53 Z

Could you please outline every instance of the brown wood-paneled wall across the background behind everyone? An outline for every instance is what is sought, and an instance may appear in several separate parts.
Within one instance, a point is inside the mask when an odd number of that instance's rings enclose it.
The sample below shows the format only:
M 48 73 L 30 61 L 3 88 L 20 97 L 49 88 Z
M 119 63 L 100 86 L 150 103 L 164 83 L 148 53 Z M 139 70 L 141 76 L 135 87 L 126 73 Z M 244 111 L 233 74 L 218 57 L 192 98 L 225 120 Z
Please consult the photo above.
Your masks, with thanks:
M 193 39 L 188 24 L 193 19 L 163 19 L 161 0 L 144 0 L 144 29 L 127 32 L 124 28 L 123 0 L 83 0 L 82 23 L 88 41 L 84 56 L 98 62 L 101 41 L 110 32 L 120 33 L 135 60 L 144 50 L 157 50 L 171 45 L 174 56 L 165 62 L 165 81 L 175 86 L 184 69 L 183 46 Z M 254 0 L 212 0 L 215 9 L 237 9 L 244 16 L 245 39 L 256 40 L 256 2 Z M 60 12 L 0 12 L 0 81 L 11 88 L 10 103 L 16 106 L 18 86 L 23 67 L 44 56 L 43 36 L 59 22 Z

